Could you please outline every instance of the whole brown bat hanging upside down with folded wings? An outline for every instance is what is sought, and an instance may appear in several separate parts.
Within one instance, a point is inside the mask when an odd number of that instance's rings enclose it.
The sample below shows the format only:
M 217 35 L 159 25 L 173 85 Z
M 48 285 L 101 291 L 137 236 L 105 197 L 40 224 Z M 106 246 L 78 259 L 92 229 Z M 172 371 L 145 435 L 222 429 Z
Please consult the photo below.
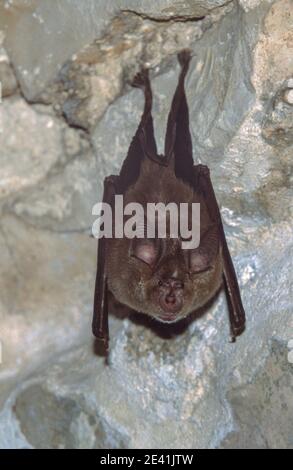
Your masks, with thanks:
M 168 117 L 165 155 L 158 155 L 151 115 L 152 91 L 146 69 L 133 86 L 144 91 L 141 122 L 119 176 L 104 181 L 103 202 L 200 203 L 200 244 L 183 249 L 182 239 L 101 238 L 94 300 L 93 333 L 108 348 L 108 291 L 131 309 L 173 323 L 204 306 L 224 286 L 232 341 L 245 329 L 237 277 L 220 211 L 205 165 L 194 165 L 184 80 L 191 54 L 178 55 L 181 73 Z M 169 234 L 170 235 L 170 234 Z

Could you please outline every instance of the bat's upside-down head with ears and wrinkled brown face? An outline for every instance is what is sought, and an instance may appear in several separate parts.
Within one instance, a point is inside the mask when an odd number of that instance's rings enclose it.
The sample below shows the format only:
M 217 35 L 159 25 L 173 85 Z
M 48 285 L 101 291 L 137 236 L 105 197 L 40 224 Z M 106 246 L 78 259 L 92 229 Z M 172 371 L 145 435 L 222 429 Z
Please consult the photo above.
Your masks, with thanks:
M 117 257 L 111 257 L 111 291 L 121 303 L 161 322 L 173 323 L 186 317 L 204 305 L 221 285 L 215 226 L 203 234 L 196 249 L 183 249 L 180 239 L 171 238 L 135 238 L 124 249 L 123 240 L 114 243 L 121 245 L 116 252 L 124 275 L 121 276 Z

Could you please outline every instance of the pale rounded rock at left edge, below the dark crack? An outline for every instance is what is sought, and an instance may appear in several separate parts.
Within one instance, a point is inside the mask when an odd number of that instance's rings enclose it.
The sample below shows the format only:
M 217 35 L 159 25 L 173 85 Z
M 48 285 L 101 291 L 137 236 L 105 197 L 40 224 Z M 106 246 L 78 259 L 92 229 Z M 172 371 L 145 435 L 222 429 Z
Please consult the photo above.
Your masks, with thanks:
M 64 159 L 62 123 L 22 98 L 0 105 L 0 200 L 40 183 Z

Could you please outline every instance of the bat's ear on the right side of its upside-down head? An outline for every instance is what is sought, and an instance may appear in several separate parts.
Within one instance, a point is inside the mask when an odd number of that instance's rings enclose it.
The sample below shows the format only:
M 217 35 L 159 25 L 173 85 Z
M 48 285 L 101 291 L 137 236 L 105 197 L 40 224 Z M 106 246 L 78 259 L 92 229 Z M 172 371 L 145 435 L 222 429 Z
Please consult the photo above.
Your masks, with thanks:
M 217 225 L 212 225 L 201 236 L 198 248 L 188 251 L 191 273 L 199 273 L 211 268 L 213 260 L 219 251 L 219 231 Z

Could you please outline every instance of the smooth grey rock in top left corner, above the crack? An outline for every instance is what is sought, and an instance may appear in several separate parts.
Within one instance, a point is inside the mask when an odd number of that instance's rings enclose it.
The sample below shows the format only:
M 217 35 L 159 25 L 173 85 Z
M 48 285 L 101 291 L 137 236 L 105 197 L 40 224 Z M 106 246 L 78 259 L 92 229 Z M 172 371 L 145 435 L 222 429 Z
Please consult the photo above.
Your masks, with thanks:
M 102 36 L 111 20 L 123 11 L 129 11 L 130 17 L 194 19 L 230 1 L 159 0 L 154 4 L 147 0 L 142 4 L 139 0 L 56 0 L 52 8 L 50 0 L 2 0 L 0 28 L 7 34 L 6 47 L 22 90 L 33 99 L 73 53 Z M 24 50 L 29 53 L 24 54 Z

